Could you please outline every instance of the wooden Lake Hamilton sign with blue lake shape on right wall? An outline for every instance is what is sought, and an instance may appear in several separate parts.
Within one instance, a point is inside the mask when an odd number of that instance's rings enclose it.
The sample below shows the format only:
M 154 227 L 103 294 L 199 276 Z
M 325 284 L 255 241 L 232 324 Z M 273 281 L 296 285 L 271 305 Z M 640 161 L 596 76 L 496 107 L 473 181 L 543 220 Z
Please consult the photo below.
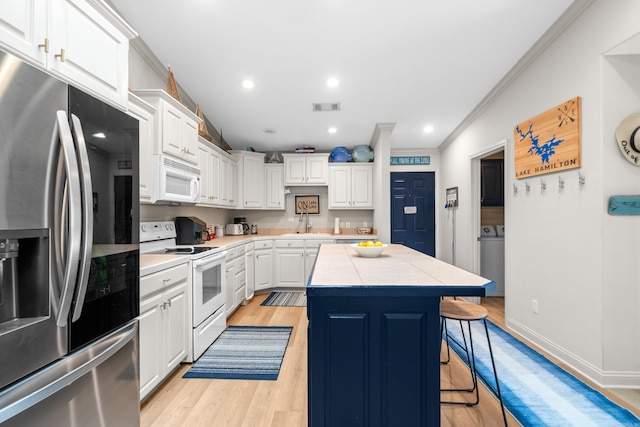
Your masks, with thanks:
M 514 128 L 517 179 L 581 166 L 580 104 L 577 96 Z

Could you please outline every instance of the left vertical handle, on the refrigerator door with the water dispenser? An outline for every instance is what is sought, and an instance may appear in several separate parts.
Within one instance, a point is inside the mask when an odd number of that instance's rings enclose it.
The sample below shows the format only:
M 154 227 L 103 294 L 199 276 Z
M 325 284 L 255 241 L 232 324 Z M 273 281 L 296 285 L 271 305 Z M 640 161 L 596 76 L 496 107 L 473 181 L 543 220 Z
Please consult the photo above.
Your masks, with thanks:
M 73 291 L 75 290 L 76 279 L 78 277 L 78 262 L 80 259 L 80 239 L 82 236 L 82 223 L 79 214 L 82 212 L 81 192 L 80 192 L 80 176 L 78 169 L 78 161 L 76 160 L 75 148 L 73 145 L 73 137 L 69 122 L 67 121 L 67 113 L 58 111 L 56 113 L 57 128 L 60 136 L 60 145 L 64 154 L 65 167 L 67 172 L 67 188 L 68 188 L 68 212 L 69 212 L 69 239 L 67 242 L 67 263 L 62 283 L 62 293 L 60 295 L 60 304 L 58 307 L 58 319 L 56 324 L 58 327 L 67 325 L 67 317 L 71 310 L 71 300 Z M 60 230 L 59 232 L 62 232 Z

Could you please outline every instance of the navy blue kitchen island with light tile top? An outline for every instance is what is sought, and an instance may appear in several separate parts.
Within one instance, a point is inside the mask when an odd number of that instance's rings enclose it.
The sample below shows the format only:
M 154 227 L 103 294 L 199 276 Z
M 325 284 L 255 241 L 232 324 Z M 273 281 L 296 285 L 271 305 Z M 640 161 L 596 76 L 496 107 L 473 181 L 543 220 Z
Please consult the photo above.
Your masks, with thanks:
M 402 245 L 322 245 L 307 285 L 309 426 L 440 426 L 440 298 L 495 283 Z

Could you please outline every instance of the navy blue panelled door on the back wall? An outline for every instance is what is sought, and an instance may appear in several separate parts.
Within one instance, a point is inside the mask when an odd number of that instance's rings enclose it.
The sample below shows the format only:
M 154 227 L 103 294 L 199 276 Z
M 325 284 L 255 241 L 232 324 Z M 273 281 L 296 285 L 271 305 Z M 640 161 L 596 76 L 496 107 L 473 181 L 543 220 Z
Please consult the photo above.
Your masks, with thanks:
M 435 172 L 391 173 L 391 243 L 436 255 Z

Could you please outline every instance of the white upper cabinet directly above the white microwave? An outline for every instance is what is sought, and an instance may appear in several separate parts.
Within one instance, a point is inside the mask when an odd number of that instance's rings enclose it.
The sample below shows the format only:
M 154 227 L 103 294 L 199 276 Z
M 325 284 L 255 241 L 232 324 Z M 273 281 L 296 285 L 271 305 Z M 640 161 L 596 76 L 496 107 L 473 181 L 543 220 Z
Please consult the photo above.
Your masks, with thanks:
M 154 154 L 198 164 L 198 124 L 200 118 L 167 92 L 143 89 L 134 92 L 156 108 Z

